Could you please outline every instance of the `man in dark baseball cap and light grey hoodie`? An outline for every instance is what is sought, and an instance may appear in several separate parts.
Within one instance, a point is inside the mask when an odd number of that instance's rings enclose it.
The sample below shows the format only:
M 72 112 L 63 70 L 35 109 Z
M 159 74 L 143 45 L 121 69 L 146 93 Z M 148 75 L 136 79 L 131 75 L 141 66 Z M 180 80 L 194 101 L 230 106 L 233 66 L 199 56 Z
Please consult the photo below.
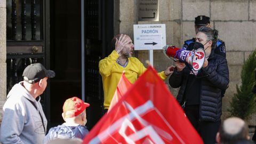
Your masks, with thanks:
M 33 63 L 23 71 L 24 81 L 15 84 L 7 95 L 0 130 L 2 143 L 42 143 L 46 134 L 45 117 L 40 95 L 47 79 L 55 76 L 41 63 Z

